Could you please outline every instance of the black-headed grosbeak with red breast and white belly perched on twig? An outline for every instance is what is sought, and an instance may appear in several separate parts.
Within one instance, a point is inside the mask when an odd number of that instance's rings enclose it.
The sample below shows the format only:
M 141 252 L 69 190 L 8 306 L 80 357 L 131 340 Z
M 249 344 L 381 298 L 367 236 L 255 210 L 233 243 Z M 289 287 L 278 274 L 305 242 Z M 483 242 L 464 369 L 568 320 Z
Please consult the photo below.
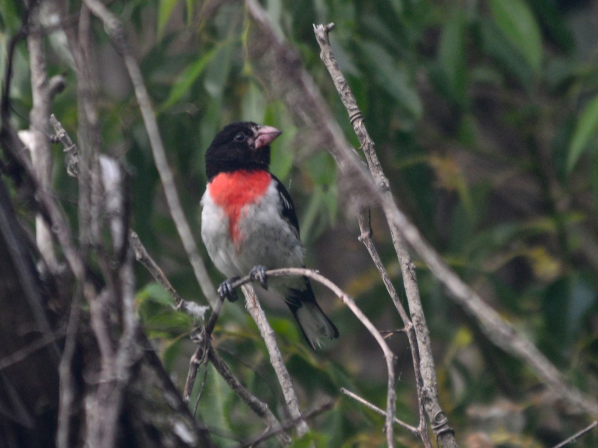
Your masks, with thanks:
M 229 299 L 234 277 L 247 275 L 267 287 L 264 271 L 304 267 L 304 248 L 289 192 L 268 171 L 270 143 L 280 135 L 254 122 L 229 124 L 206 152 L 208 186 L 202 198 L 202 240 L 212 262 L 229 277 L 218 289 Z M 270 289 L 284 297 L 307 342 L 335 339 L 338 330 L 324 314 L 307 277 L 275 277 Z

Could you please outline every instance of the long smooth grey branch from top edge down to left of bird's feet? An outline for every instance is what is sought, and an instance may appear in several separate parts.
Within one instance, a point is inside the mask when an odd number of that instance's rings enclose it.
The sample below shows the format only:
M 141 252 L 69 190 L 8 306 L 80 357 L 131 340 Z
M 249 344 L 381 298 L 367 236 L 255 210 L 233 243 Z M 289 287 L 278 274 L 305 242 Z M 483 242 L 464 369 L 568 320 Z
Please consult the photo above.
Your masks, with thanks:
M 193 266 L 193 271 L 196 275 L 202 292 L 206 296 L 206 299 L 210 305 L 214 307 L 216 306 L 216 303 L 218 303 L 218 294 L 216 294 L 216 290 L 209 278 L 206 266 L 203 263 L 199 251 L 197 250 L 197 244 L 193 237 L 193 232 L 191 232 L 189 223 L 185 218 L 181 201 L 179 200 L 179 196 L 176 191 L 174 176 L 166 159 L 166 150 L 164 149 L 164 143 L 160 136 L 160 131 L 158 130 L 158 123 L 155 119 L 154 110 L 151 105 L 147 88 L 145 87 L 144 78 L 142 76 L 141 69 L 139 69 L 139 64 L 135 60 L 135 57 L 130 50 L 123 29 L 123 24 L 114 14 L 111 13 L 111 11 L 108 10 L 108 8 L 105 7 L 104 4 L 102 4 L 102 2 L 98 0 L 85 0 L 85 4 L 90 8 L 95 16 L 102 20 L 106 32 L 112 39 L 115 47 L 123 56 L 124 64 L 127 67 L 127 72 L 129 72 L 129 77 L 133 83 L 135 96 L 137 97 L 139 109 L 144 119 L 145 128 L 149 137 L 149 145 L 151 146 L 152 154 L 154 155 L 155 166 L 160 174 L 164 193 L 166 194 L 166 201 L 170 208 L 170 214 L 175 222 L 176 229 L 179 232 L 181 241 L 185 251 L 187 252 L 191 266 Z

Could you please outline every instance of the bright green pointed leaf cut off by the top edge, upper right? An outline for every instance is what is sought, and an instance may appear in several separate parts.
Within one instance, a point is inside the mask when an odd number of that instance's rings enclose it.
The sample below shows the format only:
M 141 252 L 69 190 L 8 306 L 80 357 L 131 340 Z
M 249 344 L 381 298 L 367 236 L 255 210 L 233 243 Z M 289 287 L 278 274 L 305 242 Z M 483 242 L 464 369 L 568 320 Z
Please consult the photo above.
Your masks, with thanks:
M 542 35 L 529 7 L 521 0 L 490 0 L 490 10 L 507 39 L 523 53 L 534 72 L 539 72 Z

